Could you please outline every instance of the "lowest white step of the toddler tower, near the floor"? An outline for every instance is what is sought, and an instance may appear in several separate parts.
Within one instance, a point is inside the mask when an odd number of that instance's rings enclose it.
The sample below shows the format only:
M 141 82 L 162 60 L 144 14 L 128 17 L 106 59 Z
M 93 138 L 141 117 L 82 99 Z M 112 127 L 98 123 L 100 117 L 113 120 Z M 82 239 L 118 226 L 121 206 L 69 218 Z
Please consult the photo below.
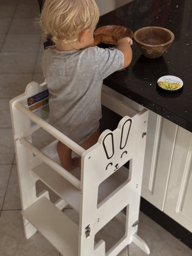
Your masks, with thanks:
M 23 210 L 22 215 L 62 255 L 78 255 L 78 226 L 49 199 L 41 197 L 26 210 Z

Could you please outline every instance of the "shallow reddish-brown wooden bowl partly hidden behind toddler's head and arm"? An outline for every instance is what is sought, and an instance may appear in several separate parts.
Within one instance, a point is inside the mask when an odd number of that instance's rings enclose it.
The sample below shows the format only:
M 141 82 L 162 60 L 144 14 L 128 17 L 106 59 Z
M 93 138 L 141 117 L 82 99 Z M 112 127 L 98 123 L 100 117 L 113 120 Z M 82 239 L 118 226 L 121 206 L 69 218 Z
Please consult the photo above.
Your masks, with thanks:
M 102 26 L 94 31 L 94 45 L 116 45 L 119 39 L 126 36 L 133 37 L 133 32 L 129 28 L 117 25 Z

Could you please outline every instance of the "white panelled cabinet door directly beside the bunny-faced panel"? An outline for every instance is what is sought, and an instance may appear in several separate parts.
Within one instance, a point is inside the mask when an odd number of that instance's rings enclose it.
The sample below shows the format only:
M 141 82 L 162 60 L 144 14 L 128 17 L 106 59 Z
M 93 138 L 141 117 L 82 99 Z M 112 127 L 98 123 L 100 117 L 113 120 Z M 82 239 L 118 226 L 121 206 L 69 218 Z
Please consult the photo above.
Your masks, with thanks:
M 177 125 L 150 111 L 141 196 L 163 211 Z

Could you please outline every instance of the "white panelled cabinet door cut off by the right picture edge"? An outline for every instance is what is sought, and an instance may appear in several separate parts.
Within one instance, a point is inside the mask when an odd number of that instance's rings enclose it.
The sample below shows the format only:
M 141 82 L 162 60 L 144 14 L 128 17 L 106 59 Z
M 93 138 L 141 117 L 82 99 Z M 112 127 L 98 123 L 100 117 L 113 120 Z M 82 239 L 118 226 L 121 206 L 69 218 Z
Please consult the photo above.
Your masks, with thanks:
M 192 232 L 192 133 L 179 127 L 164 212 Z

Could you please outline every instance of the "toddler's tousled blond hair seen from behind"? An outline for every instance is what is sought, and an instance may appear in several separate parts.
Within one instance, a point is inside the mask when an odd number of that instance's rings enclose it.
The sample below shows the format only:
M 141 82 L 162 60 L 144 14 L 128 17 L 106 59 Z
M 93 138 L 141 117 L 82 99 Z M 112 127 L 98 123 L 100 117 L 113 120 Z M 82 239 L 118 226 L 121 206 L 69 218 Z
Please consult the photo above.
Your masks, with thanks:
M 44 36 L 57 43 L 75 43 L 81 31 L 94 30 L 99 9 L 94 0 L 46 0 L 40 25 Z

